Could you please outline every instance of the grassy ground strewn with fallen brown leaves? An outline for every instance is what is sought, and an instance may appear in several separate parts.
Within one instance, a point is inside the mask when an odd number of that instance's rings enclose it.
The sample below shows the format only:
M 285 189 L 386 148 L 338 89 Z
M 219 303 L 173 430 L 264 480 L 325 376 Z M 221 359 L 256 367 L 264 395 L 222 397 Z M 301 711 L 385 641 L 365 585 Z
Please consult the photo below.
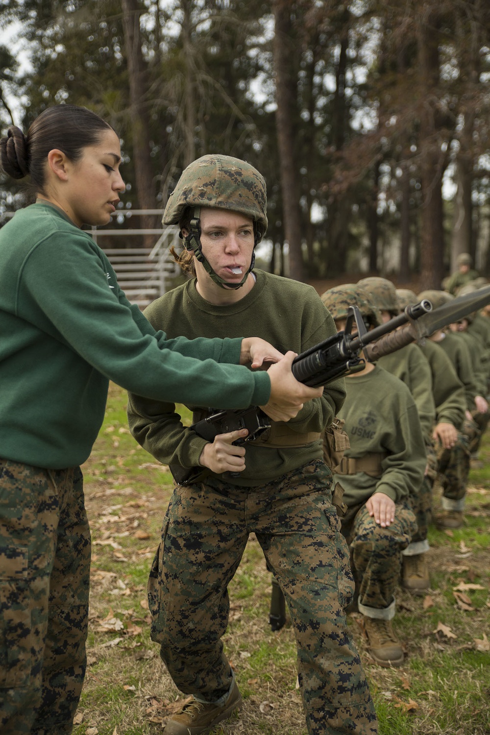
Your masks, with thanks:
M 156 735 L 180 706 L 149 637 L 146 602 L 172 479 L 134 442 L 125 409 L 126 394 L 112 386 L 104 426 L 83 468 L 93 564 L 89 666 L 74 735 Z M 406 651 L 403 667 L 374 664 L 361 616 L 349 616 L 380 735 L 490 735 L 489 436 L 480 459 L 464 527 L 430 529 L 429 594 L 397 592 L 394 628 Z M 305 735 L 293 631 L 289 620 L 281 631 L 270 630 L 270 574 L 254 537 L 229 592 L 224 642 L 244 703 L 215 735 Z

